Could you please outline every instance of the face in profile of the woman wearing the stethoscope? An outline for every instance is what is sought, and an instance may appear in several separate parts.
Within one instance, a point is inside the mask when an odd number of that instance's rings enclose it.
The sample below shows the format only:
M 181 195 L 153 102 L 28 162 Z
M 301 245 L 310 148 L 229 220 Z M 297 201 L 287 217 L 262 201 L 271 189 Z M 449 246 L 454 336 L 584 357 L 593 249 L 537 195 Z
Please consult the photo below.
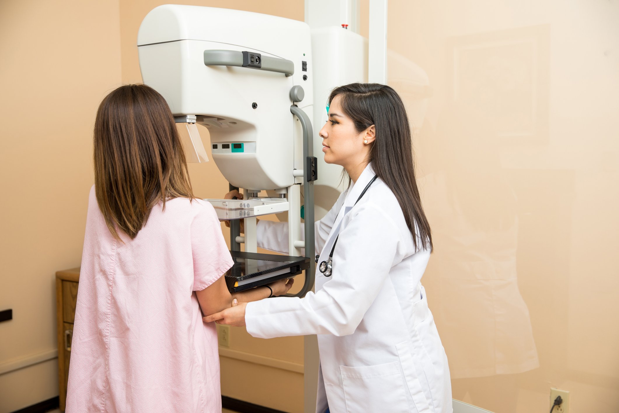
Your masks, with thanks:
M 357 133 L 352 119 L 344 115 L 341 99 L 340 95 L 335 95 L 331 100 L 329 119 L 322 126 L 319 136 L 322 137 L 324 162 L 345 167 L 346 163 L 363 157 L 363 139 L 361 134 Z

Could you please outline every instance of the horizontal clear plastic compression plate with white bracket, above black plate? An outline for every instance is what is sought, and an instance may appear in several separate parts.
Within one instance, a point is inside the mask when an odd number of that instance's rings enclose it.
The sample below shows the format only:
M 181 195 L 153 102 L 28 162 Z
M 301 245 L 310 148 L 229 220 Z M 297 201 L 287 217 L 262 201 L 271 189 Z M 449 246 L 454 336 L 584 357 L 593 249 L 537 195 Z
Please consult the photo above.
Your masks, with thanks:
M 204 199 L 217 212 L 220 221 L 258 217 L 288 211 L 288 201 L 279 198 Z

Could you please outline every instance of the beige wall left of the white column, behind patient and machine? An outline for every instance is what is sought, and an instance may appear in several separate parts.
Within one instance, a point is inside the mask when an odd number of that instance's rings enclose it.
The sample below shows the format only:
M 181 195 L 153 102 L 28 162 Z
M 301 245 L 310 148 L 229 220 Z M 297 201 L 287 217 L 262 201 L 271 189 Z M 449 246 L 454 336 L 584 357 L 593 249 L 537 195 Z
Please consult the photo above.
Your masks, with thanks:
M 0 375 L 0 413 L 58 395 L 54 273 L 80 264 L 94 116 L 111 89 L 141 81 L 137 29 L 147 12 L 166 3 L 0 1 L 0 310 L 13 309 L 13 320 L 0 323 L 0 367 L 41 354 L 52 358 Z M 302 0 L 180 3 L 303 20 Z M 201 132 L 207 141 L 206 129 Z M 227 192 L 214 162 L 189 170 L 197 196 Z M 267 342 L 233 329 L 227 354 L 223 394 L 300 411 L 302 337 Z M 252 375 L 271 380 L 239 393 L 233 378 Z M 271 397 L 268 389 L 279 395 L 285 389 L 286 396 Z

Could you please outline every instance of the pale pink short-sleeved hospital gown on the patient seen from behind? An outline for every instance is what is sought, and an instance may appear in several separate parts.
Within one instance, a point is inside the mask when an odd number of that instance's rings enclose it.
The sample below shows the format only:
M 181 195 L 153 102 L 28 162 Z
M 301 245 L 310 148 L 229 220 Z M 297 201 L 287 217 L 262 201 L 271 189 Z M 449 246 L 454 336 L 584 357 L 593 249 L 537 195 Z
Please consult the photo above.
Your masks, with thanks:
M 66 411 L 221 412 L 217 331 L 194 293 L 233 264 L 213 207 L 171 199 L 120 237 L 93 186 Z

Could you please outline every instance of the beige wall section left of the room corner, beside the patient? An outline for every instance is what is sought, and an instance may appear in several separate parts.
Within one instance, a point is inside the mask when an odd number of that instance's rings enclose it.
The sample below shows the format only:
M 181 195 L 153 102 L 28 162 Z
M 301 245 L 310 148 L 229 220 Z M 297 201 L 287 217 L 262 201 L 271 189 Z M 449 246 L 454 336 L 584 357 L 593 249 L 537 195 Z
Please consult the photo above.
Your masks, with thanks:
M 94 115 L 121 82 L 118 7 L 0 2 L 0 365 L 57 346 L 54 273 L 80 263 Z M 0 412 L 57 396 L 56 365 L 0 375 Z

